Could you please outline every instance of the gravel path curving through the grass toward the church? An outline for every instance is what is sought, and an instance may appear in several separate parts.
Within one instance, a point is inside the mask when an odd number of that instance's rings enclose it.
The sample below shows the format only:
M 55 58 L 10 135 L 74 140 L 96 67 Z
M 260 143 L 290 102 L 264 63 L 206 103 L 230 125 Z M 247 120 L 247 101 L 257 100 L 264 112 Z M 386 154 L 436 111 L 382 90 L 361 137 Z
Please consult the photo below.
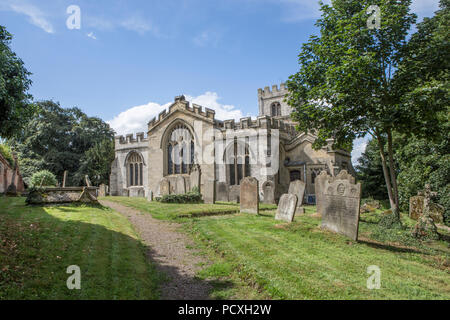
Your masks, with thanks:
M 184 234 L 177 231 L 179 224 L 154 219 L 150 214 L 111 201 L 100 201 L 103 206 L 120 212 L 139 232 L 147 245 L 149 259 L 156 263 L 158 270 L 168 275 L 162 284 L 161 299 L 164 300 L 206 300 L 211 285 L 207 281 L 195 279 L 200 269 L 201 257 L 186 248 L 192 244 Z

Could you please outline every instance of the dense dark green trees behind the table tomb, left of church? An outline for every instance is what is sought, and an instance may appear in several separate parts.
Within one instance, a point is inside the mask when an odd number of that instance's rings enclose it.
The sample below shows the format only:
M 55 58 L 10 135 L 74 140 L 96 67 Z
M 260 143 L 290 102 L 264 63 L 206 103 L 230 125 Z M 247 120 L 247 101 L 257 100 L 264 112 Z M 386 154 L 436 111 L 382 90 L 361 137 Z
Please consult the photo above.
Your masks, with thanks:
M 84 176 L 94 183 L 109 180 L 114 132 L 107 123 L 88 117 L 78 108 L 61 108 L 53 101 L 41 101 L 35 117 L 20 135 L 8 142 L 19 156 L 26 183 L 36 171 L 49 170 L 67 185 L 84 185 Z

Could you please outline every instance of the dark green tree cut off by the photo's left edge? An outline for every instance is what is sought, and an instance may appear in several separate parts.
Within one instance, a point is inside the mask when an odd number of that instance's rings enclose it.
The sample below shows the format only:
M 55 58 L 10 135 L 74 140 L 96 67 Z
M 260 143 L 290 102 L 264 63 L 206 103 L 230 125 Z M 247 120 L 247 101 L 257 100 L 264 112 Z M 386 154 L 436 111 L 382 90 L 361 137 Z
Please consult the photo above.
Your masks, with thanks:
M 11 50 L 11 39 L 6 28 L 0 26 L 0 137 L 3 138 L 19 132 L 35 111 L 27 93 L 31 73 Z

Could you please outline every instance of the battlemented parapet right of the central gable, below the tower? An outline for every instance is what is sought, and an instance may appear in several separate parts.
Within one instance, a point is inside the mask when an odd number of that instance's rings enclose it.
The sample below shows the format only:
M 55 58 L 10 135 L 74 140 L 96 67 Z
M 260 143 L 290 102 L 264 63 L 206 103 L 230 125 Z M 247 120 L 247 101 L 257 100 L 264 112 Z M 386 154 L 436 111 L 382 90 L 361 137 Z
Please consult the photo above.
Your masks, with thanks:
M 289 122 L 275 119 L 269 116 L 260 116 L 256 119 L 251 117 L 241 118 L 239 122 L 235 120 L 225 120 L 216 123 L 216 128 L 223 131 L 226 130 L 242 130 L 242 129 L 278 129 L 290 136 L 295 136 L 298 132 L 295 126 Z

